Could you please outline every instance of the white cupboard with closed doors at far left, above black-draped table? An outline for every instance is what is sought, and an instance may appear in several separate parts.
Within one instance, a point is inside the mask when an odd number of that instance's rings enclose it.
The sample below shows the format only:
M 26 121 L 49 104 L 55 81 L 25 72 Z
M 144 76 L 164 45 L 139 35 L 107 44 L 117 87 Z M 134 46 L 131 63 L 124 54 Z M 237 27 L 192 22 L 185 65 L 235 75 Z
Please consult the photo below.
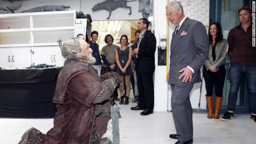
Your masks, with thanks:
M 0 67 L 25 68 L 31 66 L 30 47 L 0 48 Z

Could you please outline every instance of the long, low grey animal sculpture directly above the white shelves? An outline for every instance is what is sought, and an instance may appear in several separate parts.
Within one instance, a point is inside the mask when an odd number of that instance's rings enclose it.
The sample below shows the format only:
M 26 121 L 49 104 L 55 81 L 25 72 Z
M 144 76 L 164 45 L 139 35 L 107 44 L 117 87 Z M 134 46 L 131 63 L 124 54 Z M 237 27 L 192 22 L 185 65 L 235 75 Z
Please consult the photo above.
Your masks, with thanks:
M 54 6 L 54 5 L 48 5 L 48 6 L 39 6 L 36 8 L 31 8 L 29 10 L 24 10 L 23 12 L 51 12 L 51 11 L 64 11 L 67 10 L 66 8 L 70 8 L 70 6 Z

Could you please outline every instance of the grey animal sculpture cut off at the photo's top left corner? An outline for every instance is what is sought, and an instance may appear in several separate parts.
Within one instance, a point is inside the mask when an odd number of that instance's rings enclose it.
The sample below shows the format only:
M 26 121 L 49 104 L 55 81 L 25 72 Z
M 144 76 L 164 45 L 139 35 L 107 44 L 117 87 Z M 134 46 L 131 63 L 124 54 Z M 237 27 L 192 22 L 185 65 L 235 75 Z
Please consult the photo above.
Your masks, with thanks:
M 21 3 L 21 1 L 0 0 L 0 10 L 15 13 L 14 10 L 18 10 L 22 6 Z

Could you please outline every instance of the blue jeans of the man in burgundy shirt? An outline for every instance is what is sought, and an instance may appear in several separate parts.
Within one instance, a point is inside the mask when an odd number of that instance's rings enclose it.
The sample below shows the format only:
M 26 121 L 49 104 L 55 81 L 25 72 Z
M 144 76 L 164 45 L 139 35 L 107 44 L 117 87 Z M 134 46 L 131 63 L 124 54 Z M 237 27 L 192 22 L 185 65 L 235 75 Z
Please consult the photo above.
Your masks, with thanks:
M 235 110 L 237 92 L 242 75 L 245 74 L 247 89 L 249 93 L 250 113 L 256 114 L 256 64 L 240 65 L 230 64 L 230 90 L 228 94 L 228 109 Z

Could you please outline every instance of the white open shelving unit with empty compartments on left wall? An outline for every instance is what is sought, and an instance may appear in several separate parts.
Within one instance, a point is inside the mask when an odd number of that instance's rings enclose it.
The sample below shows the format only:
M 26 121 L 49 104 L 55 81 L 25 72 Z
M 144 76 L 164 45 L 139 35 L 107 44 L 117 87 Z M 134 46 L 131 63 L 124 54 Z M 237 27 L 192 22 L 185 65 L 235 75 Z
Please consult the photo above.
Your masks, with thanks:
M 0 44 L 12 46 L 56 44 L 58 38 L 67 40 L 75 36 L 75 18 L 75 10 L 0 14 Z

